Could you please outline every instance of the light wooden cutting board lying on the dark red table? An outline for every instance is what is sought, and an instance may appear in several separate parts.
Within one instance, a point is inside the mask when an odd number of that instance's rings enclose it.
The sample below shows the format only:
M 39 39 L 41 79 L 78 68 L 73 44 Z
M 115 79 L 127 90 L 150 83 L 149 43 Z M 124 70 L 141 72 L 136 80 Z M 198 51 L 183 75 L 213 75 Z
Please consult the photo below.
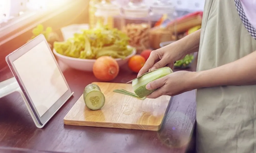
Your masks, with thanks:
M 115 89 L 133 92 L 132 84 L 93 83 L 100 87 L 105 96 L 104 106 L 99 110 L 90 110 L 81 95 L 64 117 L 64 124 L 154 131 L 161 128 L 170 96 L 141 100 L 113 92 Z

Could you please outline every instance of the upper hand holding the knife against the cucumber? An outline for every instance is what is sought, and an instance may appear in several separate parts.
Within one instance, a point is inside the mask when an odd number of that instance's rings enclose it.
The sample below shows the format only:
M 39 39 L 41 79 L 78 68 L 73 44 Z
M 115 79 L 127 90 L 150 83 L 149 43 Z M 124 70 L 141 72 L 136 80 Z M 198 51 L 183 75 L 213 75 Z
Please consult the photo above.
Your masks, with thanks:
M 180 46 L 176 42 L 162 48 L 153 50 L 150 53 L 150 56 L 148 57 L 144 66 L 138 72 L 137 77 L 141 76 L 147 71 L 152 71 L 165 66 L 173 69 L 174 62 L 183 59 L 185 56 L 186 53 L 183 51 L 182 46 Z

